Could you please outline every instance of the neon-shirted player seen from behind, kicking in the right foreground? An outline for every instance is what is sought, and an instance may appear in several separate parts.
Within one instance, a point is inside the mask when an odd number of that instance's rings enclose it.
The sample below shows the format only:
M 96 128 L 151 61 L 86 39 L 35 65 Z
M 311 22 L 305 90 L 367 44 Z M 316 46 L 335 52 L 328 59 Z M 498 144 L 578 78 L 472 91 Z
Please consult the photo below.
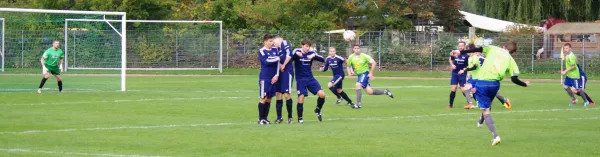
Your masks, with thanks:
M 483 62 L 480 71 L 477 74 L 479 81 L 475 84 L 475 97 L 478 100 L 478 106 L 481 109 L 481 113 L 484 116 L 485 123 L 488 129 L 492 132 L 493 140 L 492 145 L 500 143 L 500 136 L 496 132 L 494 125 L 494 119 L 490 114 L 490 106 L 496 94 L 500 90 L 500 81 L 504 79 L 506 73 L 512 75 L 511 80 L 513 83 L 527 87 L 529 81 L 522 82 L 519 80 L 519 67 L 512 58 L 517 50 L 517 44 L 515 42 L 507 42 L 502 48 L 497 46 L 486 46 L 483 48 L 475 48 L 460 51 L 460 53 L 473 53 L 483 52 L 486 56 L 486 61 Z M 456 51 L 453 51 L 453 54 Z

